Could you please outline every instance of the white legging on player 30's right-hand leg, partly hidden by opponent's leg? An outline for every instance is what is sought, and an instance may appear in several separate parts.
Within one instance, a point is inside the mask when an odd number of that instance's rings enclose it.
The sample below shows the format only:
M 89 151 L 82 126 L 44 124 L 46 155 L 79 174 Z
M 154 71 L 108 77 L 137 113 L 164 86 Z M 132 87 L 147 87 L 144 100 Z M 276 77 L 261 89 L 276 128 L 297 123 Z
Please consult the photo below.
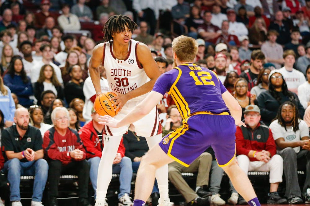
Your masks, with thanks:
M 162 134 L 153 137 L 146 137 L 148 147 L 151 149 L 162 140 Z M 159 196 L 161 199 L 169 198 L 168 194 L 168 165 L 164 165 L 155 171 L 155 178 L 158 183 Z

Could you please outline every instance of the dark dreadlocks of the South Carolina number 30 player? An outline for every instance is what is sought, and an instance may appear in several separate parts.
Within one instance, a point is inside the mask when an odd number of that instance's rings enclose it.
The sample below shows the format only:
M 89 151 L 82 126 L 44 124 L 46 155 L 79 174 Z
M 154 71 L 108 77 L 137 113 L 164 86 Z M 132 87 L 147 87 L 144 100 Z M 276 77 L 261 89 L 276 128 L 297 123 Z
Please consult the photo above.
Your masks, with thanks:
M 122 29 L 124 29 L 125 25 L 133 32 L 136 28 L 138 28 L 138 25 L 133 22 L 128 16 L 125 15 L 113 15 L 111 16 L 108 21 L 105 23 L 103 28 L 104 41 L 108 41 L 111 43 L 111 40 L 113 39 L 112 34 L 113 33 L 120 33 Z

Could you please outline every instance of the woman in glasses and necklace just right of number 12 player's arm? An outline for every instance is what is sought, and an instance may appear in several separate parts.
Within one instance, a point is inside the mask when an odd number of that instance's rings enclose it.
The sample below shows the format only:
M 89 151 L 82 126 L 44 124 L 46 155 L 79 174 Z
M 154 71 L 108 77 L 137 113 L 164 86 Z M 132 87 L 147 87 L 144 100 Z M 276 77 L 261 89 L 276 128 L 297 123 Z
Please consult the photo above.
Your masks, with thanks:
M 246 106 L 254 104 L 254 101 L 256 100 L 256 95 L 251 94 L 250 96 L 248 96 L 248 84 L 244 78 L 239 78 L 236 80 L 234 90 L 234 97 L 241 106 L 242 114 L 244 114 Z

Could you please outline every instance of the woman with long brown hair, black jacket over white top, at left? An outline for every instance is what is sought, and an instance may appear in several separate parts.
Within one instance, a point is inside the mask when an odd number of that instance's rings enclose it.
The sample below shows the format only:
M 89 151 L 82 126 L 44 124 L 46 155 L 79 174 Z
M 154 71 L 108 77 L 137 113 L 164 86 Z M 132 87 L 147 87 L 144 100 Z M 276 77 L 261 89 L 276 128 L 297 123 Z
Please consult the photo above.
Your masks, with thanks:
M 64 99 L 64 89 L 58 82 L 55 71 L 51 65 L 42 66 L 39 79 L 34 83 L 33 90 L 34 96 L 38 100 L 38 105 L 41 105 L 41 94 L 46 90 L 52 90 L 59 99 Z

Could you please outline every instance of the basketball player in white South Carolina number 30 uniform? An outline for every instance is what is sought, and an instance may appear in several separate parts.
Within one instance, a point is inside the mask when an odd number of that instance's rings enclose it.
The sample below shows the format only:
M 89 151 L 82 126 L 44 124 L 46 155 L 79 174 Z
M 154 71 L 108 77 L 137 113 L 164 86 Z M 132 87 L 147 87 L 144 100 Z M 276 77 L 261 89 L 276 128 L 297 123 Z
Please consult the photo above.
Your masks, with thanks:
M 111 91 L 117 93 L 115 105 L 122 119 L 152 90 L 160 76 L 158 66 L 147 45 L 132 40 L 133 30 L 137 24 L 124 15 L 111 16 L 105 23 L 104 43 L 98 44 L 93 50 L 89 65 L 89 73 L 97 96 L 101 93 L 99 65 L 103 64 Z M 141 120 L 133 123 L 138 136 L 146 137 L 149 148 L 162 140 L 162 126 L 156 107 Z M 129 125 L 121 128 L 105 126 L 104 149 L 98 169 L 97 200 L 95 206 L 104 205 L 108 185 L 112 178 L 112 164 L 122 135 Z M 145 174 L 147 175 L 147 174 Z M 156 179 L 160 199 L 159 206 L 168 206 L 168 166 L 156 171 Z M 131 201 L 119 201 L 118 206 L 130 206 Z

